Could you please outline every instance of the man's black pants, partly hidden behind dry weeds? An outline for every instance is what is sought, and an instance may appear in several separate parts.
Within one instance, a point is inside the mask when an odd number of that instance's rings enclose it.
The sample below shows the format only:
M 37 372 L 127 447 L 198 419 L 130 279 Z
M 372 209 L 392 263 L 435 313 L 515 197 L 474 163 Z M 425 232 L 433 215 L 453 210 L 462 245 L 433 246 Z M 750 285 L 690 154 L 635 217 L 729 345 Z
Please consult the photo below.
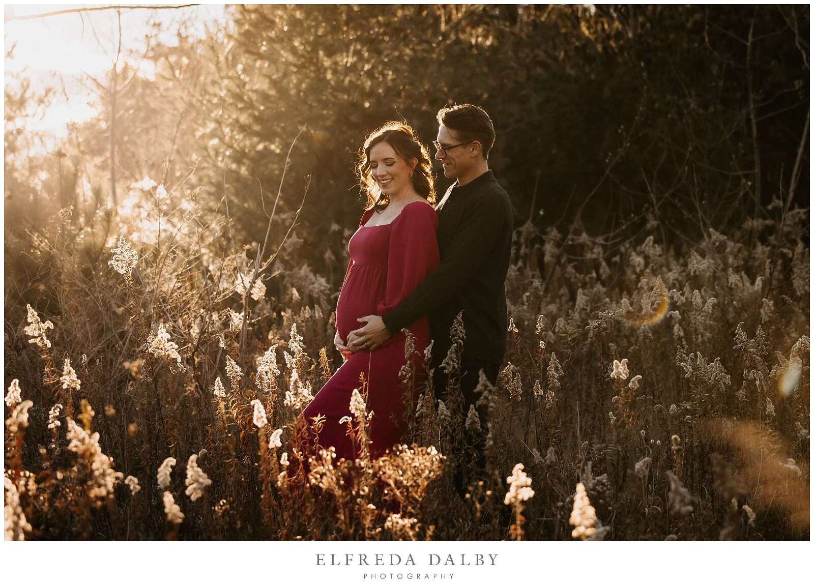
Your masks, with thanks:
M 493 362 L 484 362 L 476 360 L 463 360 L 461 365 L 461 392 L 463 395 L 463 417 L 466 421 L 466 414 L 469 413 L 469 406 L 475 405 L 480 398 L 480 393 L 475 393 L 475 388 L 478 387 L 480 380 L 480 370 L 484 370 L 486 378 L 492 386 L 497 381 L 497 374 L 500 372 L 500 365 Z M 444 399 L 447 389 L 447 375 L 444 374 L 444 369 L 440 365 L 435 366 L 433 372 L 432 383 L 435 389 L 435 398 Z M 477 409 L 477 407 L 475 408 Z M 455 451 L 455 488 L 458 494 L 463 498 L 466 495 L 467 485 L 469 483 L 476 483 L 479 479 L 484 479 L 486 471 L 486 435 L 488 434 L 487 422 L 488 411 L 485 407 L 478 409 L 478 416 L 480 418 L 480 432 L 472 432 L 464 430 L 464 445 L 453 446 Z M 470 449 L 465 450 L 465 446 L 470 446 Z M 467 478 L 466 470 L 474 471 L 472 477 Z

